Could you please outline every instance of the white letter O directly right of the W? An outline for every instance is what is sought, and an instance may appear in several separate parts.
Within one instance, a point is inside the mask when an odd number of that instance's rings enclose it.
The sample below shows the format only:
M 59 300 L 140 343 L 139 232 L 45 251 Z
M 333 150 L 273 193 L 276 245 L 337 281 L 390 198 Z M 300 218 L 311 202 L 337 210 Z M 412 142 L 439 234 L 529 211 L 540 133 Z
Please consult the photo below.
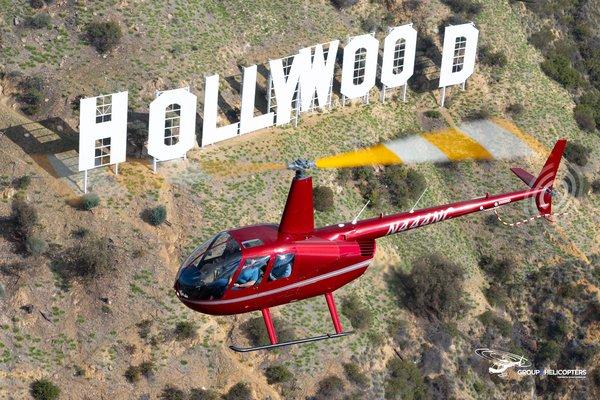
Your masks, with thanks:
M 363 97 L 375 85 L 379 41 L 370 34 L 353 37 L 344 47 L 341 92 L 349 99 Z

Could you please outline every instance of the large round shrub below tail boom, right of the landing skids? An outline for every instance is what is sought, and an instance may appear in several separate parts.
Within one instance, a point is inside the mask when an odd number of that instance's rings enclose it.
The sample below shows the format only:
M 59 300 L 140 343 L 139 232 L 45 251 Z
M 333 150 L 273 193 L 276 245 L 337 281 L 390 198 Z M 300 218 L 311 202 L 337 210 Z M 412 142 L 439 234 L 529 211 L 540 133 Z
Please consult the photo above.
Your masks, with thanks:
M 425 317 L 433 313 L 447 319 L 466 309 L 462 285 L 464 271 L 438 255 L 418 260 L 409 274 L 398 270 L 391 285 L 405 307 Z

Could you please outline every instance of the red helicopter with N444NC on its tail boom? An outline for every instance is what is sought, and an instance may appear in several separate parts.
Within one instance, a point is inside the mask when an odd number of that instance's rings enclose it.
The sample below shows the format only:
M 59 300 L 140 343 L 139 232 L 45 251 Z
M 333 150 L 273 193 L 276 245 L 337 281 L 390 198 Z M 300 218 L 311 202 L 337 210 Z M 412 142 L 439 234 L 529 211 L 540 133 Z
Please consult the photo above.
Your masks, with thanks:
M 529 189 L 315 228 L 312 178 L 314 163 L 297 160 L 296 172 L 279 225 L 262 224 L 221 232 L 189 256 L 175 281 L 177 297 L 192 310 L 231 315 L 261 310 L 270 344 L 232 350 L 248 352 L 346 336 L 333 292 L 361 276 L 373 260 L 375 239 L 477 211 L 535 198 L 551 220 L 553 184 L 565 150 L 560 139 L 540 174 L 511 170 Z M 324 295 L 335 334 L 279 342 L 269 309 Z

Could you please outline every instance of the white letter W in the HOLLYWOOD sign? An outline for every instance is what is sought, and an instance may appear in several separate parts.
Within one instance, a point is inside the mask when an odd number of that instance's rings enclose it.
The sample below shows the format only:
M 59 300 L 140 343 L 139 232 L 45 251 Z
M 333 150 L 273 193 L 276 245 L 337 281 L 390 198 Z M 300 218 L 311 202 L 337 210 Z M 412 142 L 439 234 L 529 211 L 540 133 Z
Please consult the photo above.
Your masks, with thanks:
M 300 53 L 305 54 L 309 59 L 313 56 L 310 68 L 303 71 L 300 75 L 300 93 L 302 94 L 300 100 L 303 112 L 310 109 L 315 91 L 317 92 L 319 107 L 323 108 L 329 104 L 331 85 L 333 83 L 333 70 L 339 44 L 339 40 L 329 42 L 327 60 L 325 60 L 325 55 L 323 54 L 322 44 L 314 46 L 314 56 L 311 47 L 300 50 Z

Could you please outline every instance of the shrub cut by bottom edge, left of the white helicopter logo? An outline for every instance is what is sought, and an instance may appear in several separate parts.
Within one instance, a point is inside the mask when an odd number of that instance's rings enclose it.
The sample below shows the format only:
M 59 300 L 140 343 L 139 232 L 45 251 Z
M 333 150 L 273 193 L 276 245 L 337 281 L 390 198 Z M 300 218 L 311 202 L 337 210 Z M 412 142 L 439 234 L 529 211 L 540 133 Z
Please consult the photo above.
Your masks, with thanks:
M 385 381 L 386 399 L 426 399 L 427 387 L 417 366 L 409 361 L 392 358 L 387 363 L 389 376 Z

